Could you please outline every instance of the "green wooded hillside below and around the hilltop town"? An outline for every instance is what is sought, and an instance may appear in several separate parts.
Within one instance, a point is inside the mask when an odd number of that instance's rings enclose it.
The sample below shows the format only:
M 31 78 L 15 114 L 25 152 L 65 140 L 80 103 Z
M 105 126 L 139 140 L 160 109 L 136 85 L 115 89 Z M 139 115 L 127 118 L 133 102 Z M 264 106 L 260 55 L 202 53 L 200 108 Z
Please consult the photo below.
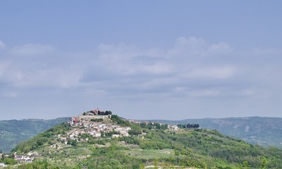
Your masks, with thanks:
M 116 115 L 104 123 L 130 127 L 130 135 L 78 134 L 64 142 L 72 130 L 88 128 L 63 123 L 18 144 L 13 152 L 37 151 L 40 156 L 17 168 L 282 168 L 281 150 L 246 144 L 216 130 L 168 130 L 167 125 L 134 124 Z

